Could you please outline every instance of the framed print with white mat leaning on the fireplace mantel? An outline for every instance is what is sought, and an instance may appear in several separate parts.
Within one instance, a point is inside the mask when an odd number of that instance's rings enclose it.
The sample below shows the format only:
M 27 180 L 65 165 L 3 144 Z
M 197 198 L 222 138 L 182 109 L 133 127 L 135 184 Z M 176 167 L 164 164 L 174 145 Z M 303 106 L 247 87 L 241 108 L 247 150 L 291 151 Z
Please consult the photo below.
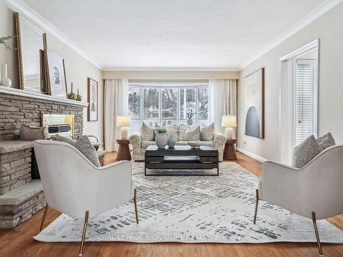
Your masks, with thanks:
M 47 50 L 47 77 L 49 95 L 67 98 L 64 59 L 49 50 Z

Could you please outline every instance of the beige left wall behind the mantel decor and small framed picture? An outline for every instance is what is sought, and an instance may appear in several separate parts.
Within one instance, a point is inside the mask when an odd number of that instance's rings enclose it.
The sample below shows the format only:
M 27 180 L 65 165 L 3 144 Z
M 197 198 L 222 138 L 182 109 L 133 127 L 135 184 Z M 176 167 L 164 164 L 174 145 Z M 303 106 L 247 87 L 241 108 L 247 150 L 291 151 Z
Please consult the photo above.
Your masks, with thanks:
M 14 12 L 5 5 L 5 1 L 0 0 L 0 35 L 14 35 L 16 34 L 14 29 Z M 15 44 L 13 44 L 15 47 Z M 102 102 L 104 95 L 104 86 L 102 80 L 102 71 L 97 69 L 96 66 L 88 62 L 73 51 L 71 48 L 64 45 L 63 42 L 47 34 L 47 47 L 49 50 L 57 53 L 64 58 L 64 64 L 66 69 L 66 77 L 68 84 L 68 92 L 71 90 L 71 82 L 74 84 L 74 93 L 77 88 L 82 95 L 82 101 L 87 100 L 87 77 L 92 77 L 99 82 L 99 120 L 88 122 L 87 121 L 87 108 L 84 108 L 84 134 L 94 134 L 104 142 L 103 139 L 103 123 L 102 123 Z M 8 77 L 12 79 L 12 85 L 15 88 L 19 88 L 19 73 L 18 62 L 16 61 L 16 52 L 9 51 L 0 45 L 0 63 L 8 64 Z

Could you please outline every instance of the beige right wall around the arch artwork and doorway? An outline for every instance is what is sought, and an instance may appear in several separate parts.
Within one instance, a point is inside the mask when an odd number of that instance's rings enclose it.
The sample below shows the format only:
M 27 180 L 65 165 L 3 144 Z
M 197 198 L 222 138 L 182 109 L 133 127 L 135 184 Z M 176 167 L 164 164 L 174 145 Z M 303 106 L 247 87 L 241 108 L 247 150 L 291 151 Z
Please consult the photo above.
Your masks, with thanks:
M 309 24 L 241 71 L 238 86 L 238 147 L 268 160 L 279 160 L 279 59 L 320 38 L 319 127 L 343 143 L 343 3 Z M 265 67 L 265 138 L 244 136 L 244 77 Z M 246 142 L 246 143 L 244 143 Z

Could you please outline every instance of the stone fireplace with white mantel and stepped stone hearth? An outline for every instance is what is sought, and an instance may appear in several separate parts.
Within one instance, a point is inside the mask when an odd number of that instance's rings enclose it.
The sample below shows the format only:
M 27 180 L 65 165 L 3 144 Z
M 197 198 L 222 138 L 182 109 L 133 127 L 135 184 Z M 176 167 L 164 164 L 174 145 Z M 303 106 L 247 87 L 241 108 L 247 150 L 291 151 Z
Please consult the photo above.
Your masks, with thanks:
M 86 106 L 88 103 L 0 87 L 0 228 L 15 228 L 46 205 L 40 180 L 32 180 L 32 142 L 16 140 L 20 126 L 39 127 L 46 125 L 46 117 L 64 117 L 64 121 L 72 119 L 71 136 L 78 138 L 83 134 Z

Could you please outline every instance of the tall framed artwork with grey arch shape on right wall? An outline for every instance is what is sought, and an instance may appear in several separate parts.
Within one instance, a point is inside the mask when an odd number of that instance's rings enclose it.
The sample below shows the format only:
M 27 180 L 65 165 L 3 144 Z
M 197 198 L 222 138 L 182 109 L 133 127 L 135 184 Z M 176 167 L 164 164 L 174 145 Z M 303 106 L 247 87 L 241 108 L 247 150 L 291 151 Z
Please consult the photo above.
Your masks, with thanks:
M 264 68 L 244 77 L 244 130 L 264 138 Z

